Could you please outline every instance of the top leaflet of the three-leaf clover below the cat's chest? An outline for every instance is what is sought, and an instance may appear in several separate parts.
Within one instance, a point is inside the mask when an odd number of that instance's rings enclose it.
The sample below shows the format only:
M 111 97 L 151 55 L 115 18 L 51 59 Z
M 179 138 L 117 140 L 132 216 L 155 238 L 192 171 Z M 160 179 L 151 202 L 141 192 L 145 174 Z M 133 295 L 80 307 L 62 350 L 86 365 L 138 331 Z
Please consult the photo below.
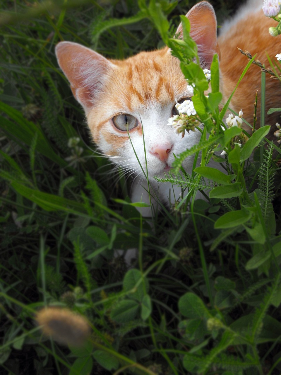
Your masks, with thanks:
M 136 285 L 138 284 L 137 288 Z M 143 278 L 141 271 L 132 269 L 129 270 L 124 276 L 123 289 L 126 292 L 132 291 L 136 288 L 135 293 L 131 296 L 136 298 L 139 302 L 142 302 L 143 297 L 148 292 L 149 284 L 146 278 Z

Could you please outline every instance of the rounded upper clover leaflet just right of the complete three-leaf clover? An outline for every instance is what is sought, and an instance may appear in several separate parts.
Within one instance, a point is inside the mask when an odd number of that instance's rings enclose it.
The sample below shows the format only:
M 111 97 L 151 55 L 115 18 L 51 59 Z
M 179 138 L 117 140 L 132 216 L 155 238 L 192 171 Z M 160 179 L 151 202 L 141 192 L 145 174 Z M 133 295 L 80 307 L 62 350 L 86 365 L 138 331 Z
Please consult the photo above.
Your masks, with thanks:
M 185 293 L 178 302 L 179 312 L 187 318 L 203 319 L 211 317 L 203 301 L 194 293 Z

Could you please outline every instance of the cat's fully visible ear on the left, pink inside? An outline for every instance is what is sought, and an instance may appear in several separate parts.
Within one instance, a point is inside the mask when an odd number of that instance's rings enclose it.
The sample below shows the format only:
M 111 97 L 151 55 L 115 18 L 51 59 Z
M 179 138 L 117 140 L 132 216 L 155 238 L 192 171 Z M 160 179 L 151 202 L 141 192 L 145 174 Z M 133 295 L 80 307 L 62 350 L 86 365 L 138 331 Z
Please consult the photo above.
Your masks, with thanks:
M 76 100 L 86 114 L 93 107 L 108 73 L 114 65 L 90 48 L 73 42 L 60 42 L 55 47 L 58 65 L 70 82 Z

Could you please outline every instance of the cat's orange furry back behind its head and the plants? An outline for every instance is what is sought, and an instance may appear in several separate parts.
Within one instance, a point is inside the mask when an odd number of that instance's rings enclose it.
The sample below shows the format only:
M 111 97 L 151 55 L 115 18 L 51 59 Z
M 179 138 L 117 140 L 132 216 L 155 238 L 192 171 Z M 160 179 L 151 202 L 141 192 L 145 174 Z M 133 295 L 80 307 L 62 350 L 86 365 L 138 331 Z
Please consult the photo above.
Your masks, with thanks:
M 257 54 L 256 58 L 267 68 L 270 68 L 267 55 L 275 60 L 275 55 L 281 52 L 281 37 L 272 37 L 268 31 L 269 27 L 277 26 L 277 22 L 264 15 L 262 5 L 262 0 L 248 1 L 231 20 L 223 24 L 219 31 L 218 44 L 221 53 L 220 69 L 224 102 L 231 95 L 248 63 L 248 59 L 238 51 L 238 47 L 249 51 L 251 55 Z M 257 90 L 260 90 L 260 76 L 260 69 L 252 65 L 230 103 L 230 107 L 235 111 L 242 108 L 244 117 L 250 123 L 253 122 L 255 94 Z M 279 106 L 277 104 L 281 95 L 280 89 L 280 82 L 267 74 L 266 112 L 275 104 Z M 270 124 L 275 123 L 275 120 L 270 117 L 266 120 L 271 121 Z

